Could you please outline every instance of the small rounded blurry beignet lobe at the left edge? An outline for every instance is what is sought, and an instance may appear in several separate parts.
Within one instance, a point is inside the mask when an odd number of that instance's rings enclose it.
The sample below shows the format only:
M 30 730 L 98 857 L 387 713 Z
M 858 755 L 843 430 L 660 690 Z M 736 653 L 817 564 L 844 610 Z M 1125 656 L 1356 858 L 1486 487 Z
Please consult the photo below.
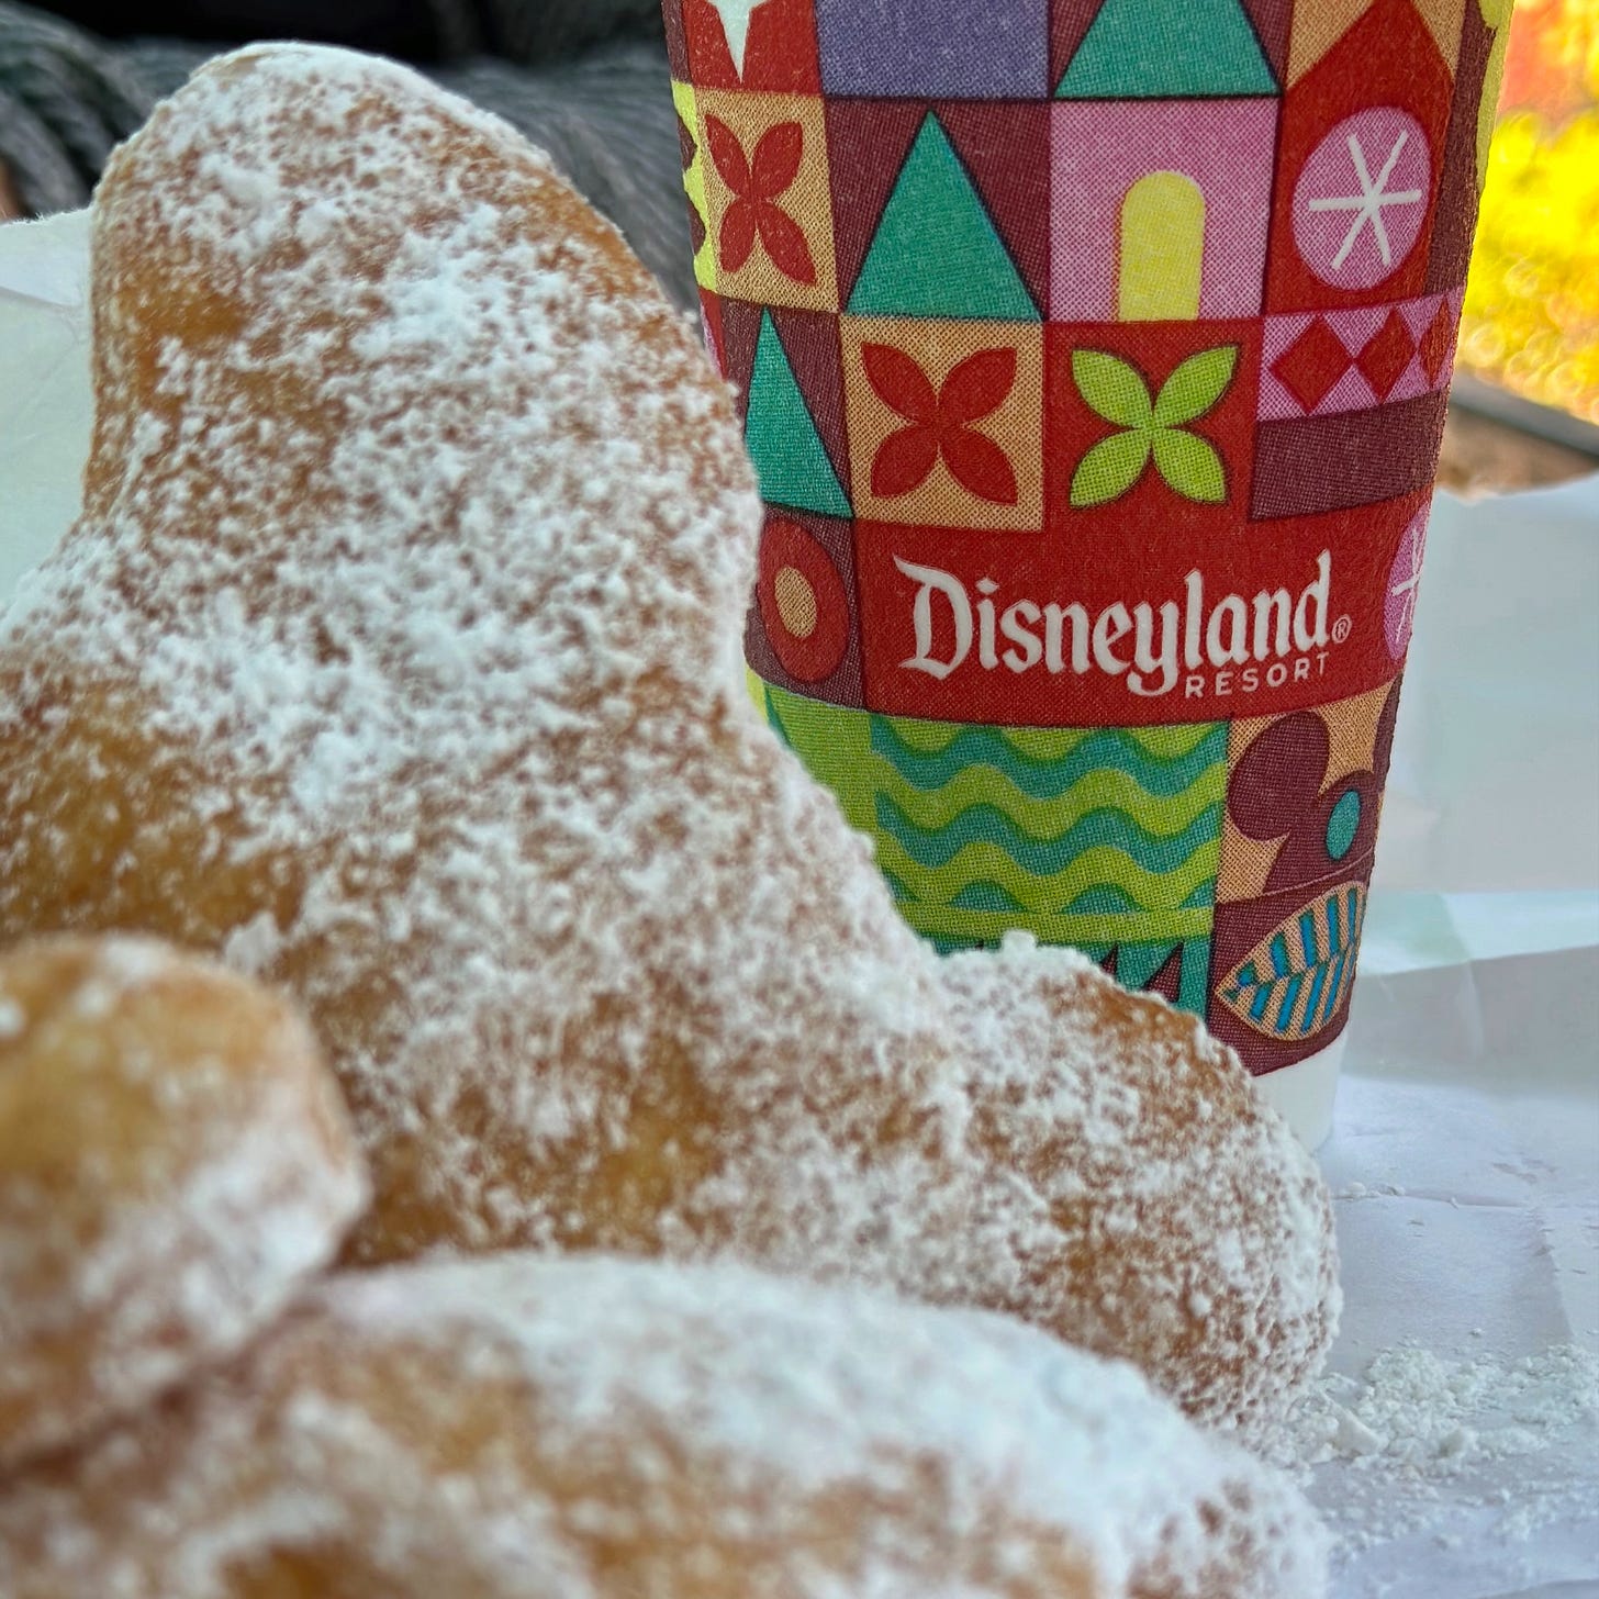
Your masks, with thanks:
M 147 939 L 6 950 L 0 1473 L 233 1354 L 365 1201 L 283 999 Z

